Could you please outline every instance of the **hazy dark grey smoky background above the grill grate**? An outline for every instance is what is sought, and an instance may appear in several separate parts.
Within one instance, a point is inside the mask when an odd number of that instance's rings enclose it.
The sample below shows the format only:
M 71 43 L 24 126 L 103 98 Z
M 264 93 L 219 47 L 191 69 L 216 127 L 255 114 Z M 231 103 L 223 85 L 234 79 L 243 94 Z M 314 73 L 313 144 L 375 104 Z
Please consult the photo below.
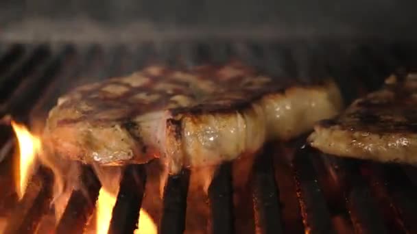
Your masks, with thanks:
M 3 0 L 0 38 L 415 40 L 416 1 Z

